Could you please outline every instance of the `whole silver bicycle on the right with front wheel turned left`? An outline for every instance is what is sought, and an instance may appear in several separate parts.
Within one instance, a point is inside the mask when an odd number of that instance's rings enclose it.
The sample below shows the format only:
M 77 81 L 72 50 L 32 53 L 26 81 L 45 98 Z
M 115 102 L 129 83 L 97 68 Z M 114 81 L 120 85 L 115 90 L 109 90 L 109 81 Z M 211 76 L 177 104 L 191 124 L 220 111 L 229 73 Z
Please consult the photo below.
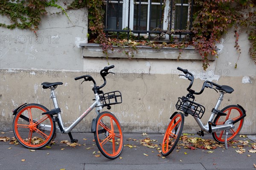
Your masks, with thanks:
M 211 81 L 205 81 L 201 91 L 195 92 L 191 89 L 194 75 L 186 69 L 181 69 L 180 67 L 177 69 L 185 74 L 181 76 L 184 76 L 191 81 L 187 88 L 189 93 L 186 97 L 183 96 L 178 98 L 175 107 L 181 112 L 174 112 L 170 117 L 171 121 L 163 137 L 161 154 L 163 156 L 168 156 L 172 153 L 182 133 L 184 116 L 188 115 L 192 115 L 198 126 L 201 128 L 201 131 L 198 131 L 197 133 L 198 135 L 204 136 L 204 132 L 212 133 L 214 140 L 220 143 L 225 143 L 225 148 L 227 149 L 227 142 L 233 140 L 233 138 L 238 135 L 243 126 L 244 117 L 246 116 L 244 108 L 239 104 L 229 105 L 221 110 L 218 109 L 224 94 L 232 93 L 234 89 L 230 86 L 221 86 Z M 215 107 L 212 109 L 209 121 L 204 125 L 200 119 L 204 115 L 205 108 L 203 105 L 195 103 L 195 95 L 201 95 L 205 87 L 214 89 L 216 92 L 219 91 L 220 97 L 218 98 Z

